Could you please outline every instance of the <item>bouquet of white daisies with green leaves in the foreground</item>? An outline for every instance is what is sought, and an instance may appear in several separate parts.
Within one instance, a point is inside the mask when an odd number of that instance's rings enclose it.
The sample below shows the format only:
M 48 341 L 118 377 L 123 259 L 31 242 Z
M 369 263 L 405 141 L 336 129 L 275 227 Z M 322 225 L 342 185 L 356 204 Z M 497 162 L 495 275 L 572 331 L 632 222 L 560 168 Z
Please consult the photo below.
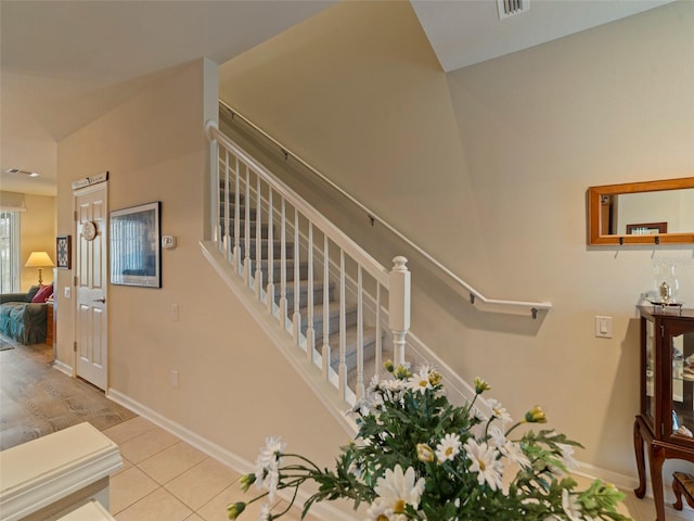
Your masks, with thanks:
M 374 379 L 367 398 L 352 410 L 359 432 L 342 448 L 334 471 L 285 452 L 286 444 L 269 437 L 254 473 L 241 479 L 261 494 L 227 507 L 236 519 L 250 503 L 264 500 L 260 519 L 281 518 L 293 506 L 306 481 L 318 492 L 304 504 L 301 518 L 317 501 L 346 498 L 355 509 L 363 503 L 367 521 L 626 521 L 617 511 L 625 495 L 600 480 L 578 491 L 569 475 L 580 444 L 553 430 L 535 432 L 545 423 L 539 406 L 513 422 L 496 399 L 491 417 L 474 407 L 490 385 L 475 379 L 475 396 L 466 405 L 446 397 L 441 374 L 429 366 L 410 372 L 408 366 L 384 365 L 387 379 Z M 511 427 L 507 427 L 511 425 Z M 523 434 L 516 429 L 526 425 Z M 288 506 L 273 512 L 279 491 L 288 488 Z

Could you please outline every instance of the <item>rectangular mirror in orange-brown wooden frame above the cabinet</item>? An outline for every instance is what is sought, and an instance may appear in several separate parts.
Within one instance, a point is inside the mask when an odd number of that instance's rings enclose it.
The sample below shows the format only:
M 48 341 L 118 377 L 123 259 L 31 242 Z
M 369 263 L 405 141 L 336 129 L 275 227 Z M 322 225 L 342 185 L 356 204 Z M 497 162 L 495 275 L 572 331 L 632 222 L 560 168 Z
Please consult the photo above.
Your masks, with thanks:
M 694 177 L 588 189 L 588 244 L 694 243 Z

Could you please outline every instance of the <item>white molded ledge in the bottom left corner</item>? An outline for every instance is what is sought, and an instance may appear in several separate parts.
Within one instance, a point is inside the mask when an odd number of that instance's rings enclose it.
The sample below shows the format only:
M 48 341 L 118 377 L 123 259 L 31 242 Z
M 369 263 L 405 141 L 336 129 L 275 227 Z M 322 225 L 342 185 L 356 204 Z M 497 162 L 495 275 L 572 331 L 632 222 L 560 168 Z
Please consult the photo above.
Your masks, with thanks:
M 91 499 L 107 509 L 108 476 L 121 468 L 118 446 L 86 422 L 2 450 L 0 519 L 54 520 Z

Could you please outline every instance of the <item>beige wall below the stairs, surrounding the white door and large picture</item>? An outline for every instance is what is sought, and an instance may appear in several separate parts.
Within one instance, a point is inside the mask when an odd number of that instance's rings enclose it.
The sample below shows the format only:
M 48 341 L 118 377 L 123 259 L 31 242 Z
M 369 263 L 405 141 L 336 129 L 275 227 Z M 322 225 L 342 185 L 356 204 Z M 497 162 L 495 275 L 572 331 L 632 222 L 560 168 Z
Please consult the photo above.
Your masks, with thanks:
M 163 251 L 163 288 L 108 287 L 110 392 L 248 461 L 277 434 L 329 463 L 346 434 L 201 253 L 204 120 L 216 96 L 216 66 L 196 61 L 63 140 L 59 231 L 74 233 L 70 182 L 89 175 L 110 171 L 112 211 L 162 201 L 163 233 L 178 238 Z M 59 275 L 57 357 L 72 367 L 75 303 L 63 292 L 75 274 Z

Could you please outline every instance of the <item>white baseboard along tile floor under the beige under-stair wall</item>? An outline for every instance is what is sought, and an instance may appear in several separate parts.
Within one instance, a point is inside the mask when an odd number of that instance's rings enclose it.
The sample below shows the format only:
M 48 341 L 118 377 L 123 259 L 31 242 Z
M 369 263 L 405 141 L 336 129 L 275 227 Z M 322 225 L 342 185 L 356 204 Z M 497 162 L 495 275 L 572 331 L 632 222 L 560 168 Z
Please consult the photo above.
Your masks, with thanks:
M 130 409 L 131 411 L 138 414 L 142 418 L 151 421 L 155 425 L 164 429 L 165 431 L 170 432 L 171 434 L 178 436 L 185 443 L 192 445 L 198 450 L 205 453 L 209 457 L 220 461 L 232 470 L 239 472 L 240 474 L 247 474 L 249 472 L 255 472 L 255 465 L 248 461 L 245 458 L 228 450 L 219 445 L 206 440 L 200 434 L 187 429 L 185 427 L 177 423 L 157 411 L 151 409 L 150 407 L 140 404 L 137 401 L 131 399 L 129 396 L 114 390 L 108 389 L 106 396 L 110 399 L 113 399 L 117 404 L 123 405 L 124 407 Z M 291 491 L 278 492 L 278 496 L 290 503 L 292 500 Z M 309 498 L 309 494 L 305 491 L 299 490 L 296 496 L 296 505 L 303 505 L 306 499 Z M 311 507 L 311 516 L 325 521 L 355 521 L 356 519 L 361 519 L 357 517 L 357 513 L 349 514 L 338 508 L 335 508 L 330 503 L 316 503 Z

